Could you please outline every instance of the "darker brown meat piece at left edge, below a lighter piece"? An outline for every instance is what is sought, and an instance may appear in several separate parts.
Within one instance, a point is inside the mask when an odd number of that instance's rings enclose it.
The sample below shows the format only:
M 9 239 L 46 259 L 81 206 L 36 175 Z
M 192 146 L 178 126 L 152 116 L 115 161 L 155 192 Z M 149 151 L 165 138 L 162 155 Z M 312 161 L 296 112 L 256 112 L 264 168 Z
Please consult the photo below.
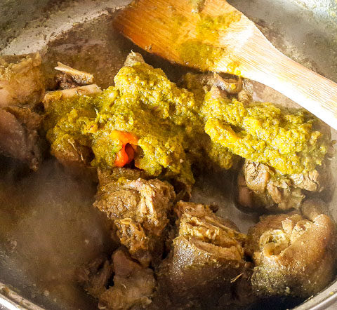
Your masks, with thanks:
M 0 109 L 0 152 L 37 170 L 42 161 L 38 133 L 41 120 L 41 116 L 29 108 L 13 106 Z

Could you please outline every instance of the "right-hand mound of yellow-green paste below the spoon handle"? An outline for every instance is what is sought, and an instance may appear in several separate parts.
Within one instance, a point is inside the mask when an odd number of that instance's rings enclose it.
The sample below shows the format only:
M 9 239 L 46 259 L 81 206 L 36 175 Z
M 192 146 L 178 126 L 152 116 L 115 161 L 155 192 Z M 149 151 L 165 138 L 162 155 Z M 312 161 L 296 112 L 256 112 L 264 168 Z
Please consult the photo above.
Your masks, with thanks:
M 267 102 L 245 106 L 207 94 L 201 113 L 213 142 L 282 175 L 314 170 L 327 152 L 328 137 L 313 130 L 317 119 L 303 111 L 282 112 Z

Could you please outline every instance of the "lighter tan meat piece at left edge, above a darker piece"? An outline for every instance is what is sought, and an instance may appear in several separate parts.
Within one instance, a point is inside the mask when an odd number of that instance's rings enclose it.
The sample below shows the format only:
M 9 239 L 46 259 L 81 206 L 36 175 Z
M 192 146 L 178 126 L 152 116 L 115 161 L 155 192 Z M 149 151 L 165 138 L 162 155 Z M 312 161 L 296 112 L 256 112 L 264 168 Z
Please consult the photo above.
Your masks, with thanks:
M 34 107 L 44 97 L 39 53 L 0 57 L 0 107 Z

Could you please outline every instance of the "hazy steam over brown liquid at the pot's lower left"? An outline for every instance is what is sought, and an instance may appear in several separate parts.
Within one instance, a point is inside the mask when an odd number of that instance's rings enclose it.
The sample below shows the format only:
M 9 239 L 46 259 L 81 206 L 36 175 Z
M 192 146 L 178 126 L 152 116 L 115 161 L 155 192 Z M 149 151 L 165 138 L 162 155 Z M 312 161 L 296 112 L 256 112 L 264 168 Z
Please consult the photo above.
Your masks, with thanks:
M 28 299 L 90 308 L 76 269 L 112 250 L 105 217 L 92 206 L 95 189 L 54 160 L 18 182 L 2 182 L 0 281 Z

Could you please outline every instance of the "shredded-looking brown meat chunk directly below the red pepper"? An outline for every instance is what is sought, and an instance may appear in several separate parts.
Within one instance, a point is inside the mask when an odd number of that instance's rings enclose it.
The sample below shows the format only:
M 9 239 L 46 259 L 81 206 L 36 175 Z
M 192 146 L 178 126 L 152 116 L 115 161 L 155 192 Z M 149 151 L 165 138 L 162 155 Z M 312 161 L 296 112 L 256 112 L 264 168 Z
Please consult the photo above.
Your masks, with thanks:
M 163 234 L 169 222 L 167 214 L 176 194 L 167 182 L 142 178 L 128 180 L 127 177 L 133 178 L 133 175 L 127 173 L 108 182 L 107 173 L 100 172 L 100 188 L 94 205 L 114 221 L 117 236 L 131 256 L 148 266 L 164 250 Z M 113 175 L 110 178 L 113 179 Z

